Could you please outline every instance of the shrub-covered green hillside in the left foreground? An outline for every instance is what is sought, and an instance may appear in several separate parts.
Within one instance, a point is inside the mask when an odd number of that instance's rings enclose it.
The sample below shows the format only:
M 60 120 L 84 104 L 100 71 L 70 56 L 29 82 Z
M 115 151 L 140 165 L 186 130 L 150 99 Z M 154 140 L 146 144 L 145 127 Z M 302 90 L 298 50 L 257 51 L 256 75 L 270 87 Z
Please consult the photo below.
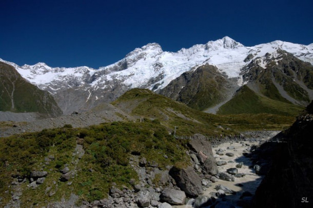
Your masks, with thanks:
M 120 188 L 130 186 L 130 179 L 138 182 L 129 164 L 132 155 L 157 162 L 163 169 L 179 161 L 188 163 L 185 145 L 181 142 L 155 121 L 113 122 L 83 129 L 58 128 L 1 138 L 0 206 L 11 199 L 12 175 L 27 179 L 21 185 L 22 207 L 42 207 L 47 204 L 46 200 L 60 201 L 71 193 L 78 195 L 80 201 L 106 198 L 112 182 Z M 85 151 L 81 159 L 74 154 L 76 143 L 82 144 Z M 54 159 L 47 162 L 48 156 Z M 59 180 L 60 170 L 66 165 L 75 173 L 68 181 L 70 185 Z M 27 187 L 32 170 L 48 172 L 44 183 L 36 189 Z M 50 193 L 54 194 L 49 197 Z

